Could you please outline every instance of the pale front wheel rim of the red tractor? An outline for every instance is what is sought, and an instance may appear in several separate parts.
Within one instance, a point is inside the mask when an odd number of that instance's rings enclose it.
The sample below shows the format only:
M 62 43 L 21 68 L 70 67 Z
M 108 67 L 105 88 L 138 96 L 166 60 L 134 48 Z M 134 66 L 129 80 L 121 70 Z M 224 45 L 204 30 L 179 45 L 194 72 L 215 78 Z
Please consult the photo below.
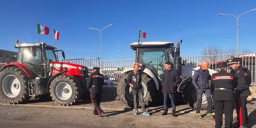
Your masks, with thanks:
M 72 89 L 70 85 L 67 84 L 66 82 L 59 83 L 56 87 L 55 92 L 58 98 L 61 100 L 67 100 L 72 95 Z

